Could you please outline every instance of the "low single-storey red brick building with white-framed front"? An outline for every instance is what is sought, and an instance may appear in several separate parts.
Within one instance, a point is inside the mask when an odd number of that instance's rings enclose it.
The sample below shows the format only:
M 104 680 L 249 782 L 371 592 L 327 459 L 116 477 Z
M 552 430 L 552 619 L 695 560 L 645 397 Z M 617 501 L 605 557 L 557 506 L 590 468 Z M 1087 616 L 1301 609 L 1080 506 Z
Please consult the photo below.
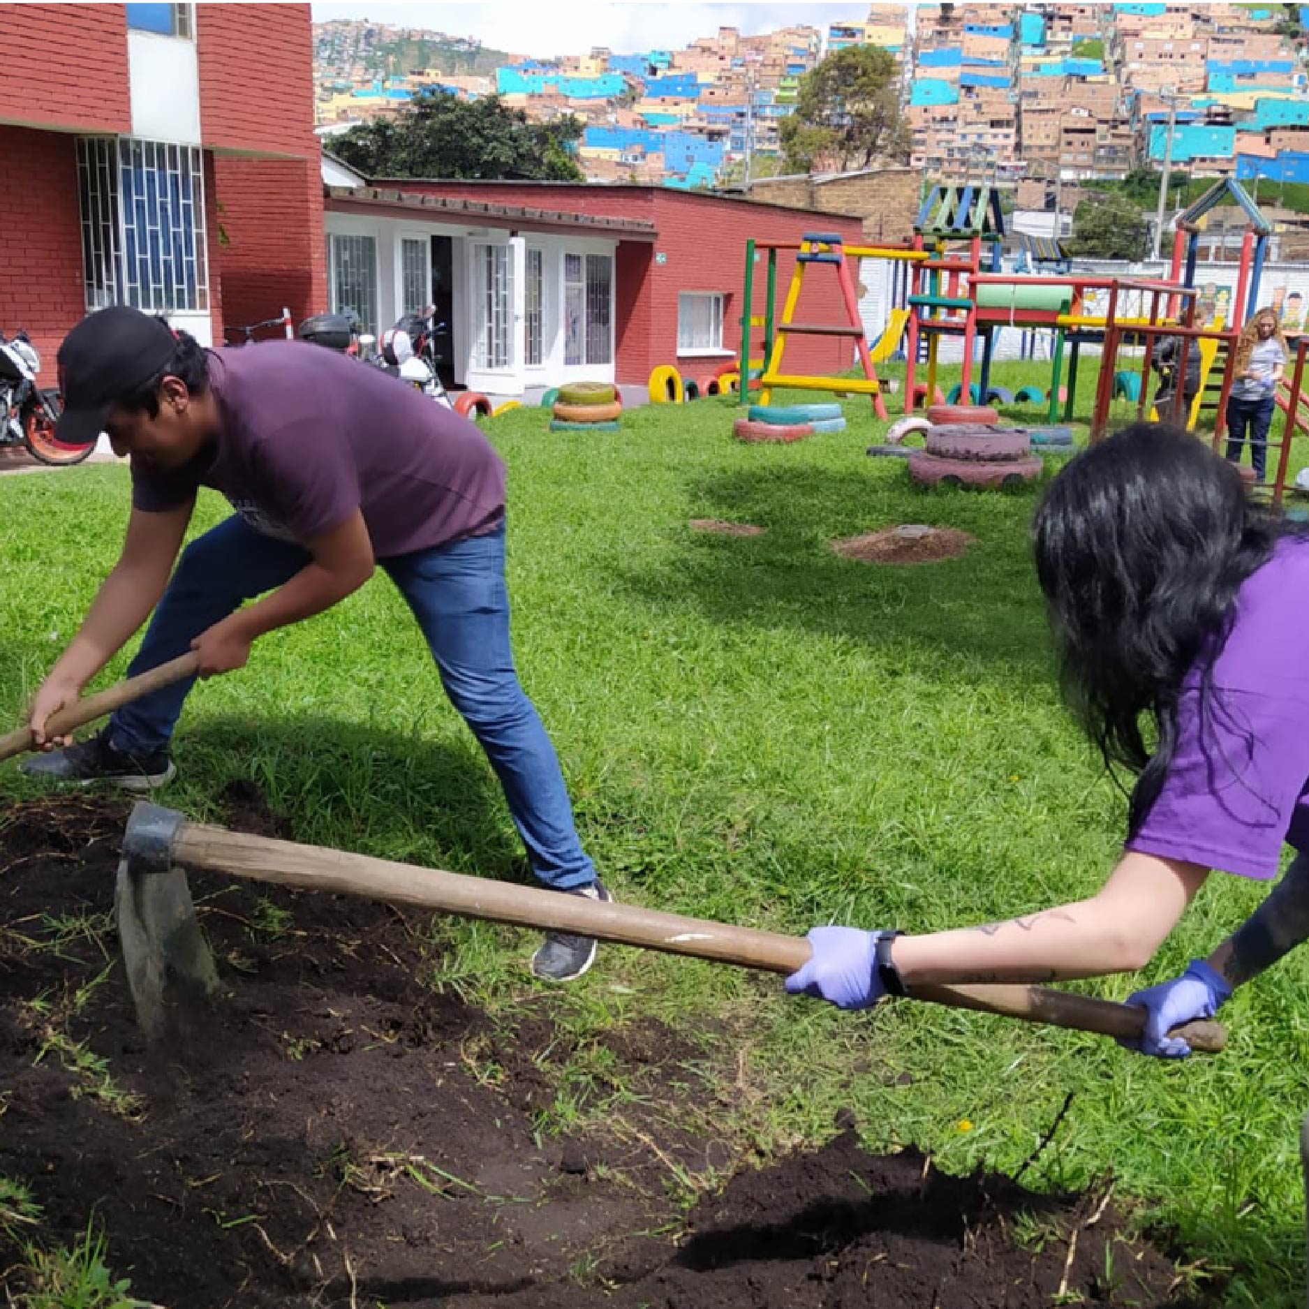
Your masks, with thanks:
M 503 395 L 581 377 L 644 386 L 658 364 L 709 373 L 740 348 L 749 237 L 863 240 L 857 217 L 660 186 L 374 181 L 331 187 L 326 207 L 332 308 L 376 330 L 435 287 L 446 382 Z M 795 259 L 778 263 L 780 313 Z M 755 313 L 766 270 L 761 255 Z M 846 321 L 830 266 L 810 267 L 797 317 Z M 785 364 L 835 373 L 852 357 L 848 339 L 798 336 Z

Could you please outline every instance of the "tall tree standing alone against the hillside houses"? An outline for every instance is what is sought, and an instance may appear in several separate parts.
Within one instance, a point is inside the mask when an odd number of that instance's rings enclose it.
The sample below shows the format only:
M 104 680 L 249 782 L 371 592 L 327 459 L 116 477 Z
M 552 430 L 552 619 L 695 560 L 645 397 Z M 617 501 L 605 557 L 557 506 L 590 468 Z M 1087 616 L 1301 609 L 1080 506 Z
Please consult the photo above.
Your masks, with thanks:
M 895 60 L 877 46 L 835 50 L 805 73 L 796 107 L 781 120 L 788 171 L 822 165 L 844 173 L 876 158 L 907 158 L 898 79 Z

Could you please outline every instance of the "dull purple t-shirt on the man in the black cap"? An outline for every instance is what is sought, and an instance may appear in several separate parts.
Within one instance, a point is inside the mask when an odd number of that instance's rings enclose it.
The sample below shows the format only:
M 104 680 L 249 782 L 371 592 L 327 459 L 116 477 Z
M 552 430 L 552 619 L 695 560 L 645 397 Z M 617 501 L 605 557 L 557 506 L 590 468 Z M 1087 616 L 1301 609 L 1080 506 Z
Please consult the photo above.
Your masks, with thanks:
M 216 449 L 182 469 L 132 465 L 132 504 L 220 491 L 267 535 L 305 543 L 363 511 L 378 559 L 493 530 L 504 463 L 469 419 L 308 342 L 211 350 Z

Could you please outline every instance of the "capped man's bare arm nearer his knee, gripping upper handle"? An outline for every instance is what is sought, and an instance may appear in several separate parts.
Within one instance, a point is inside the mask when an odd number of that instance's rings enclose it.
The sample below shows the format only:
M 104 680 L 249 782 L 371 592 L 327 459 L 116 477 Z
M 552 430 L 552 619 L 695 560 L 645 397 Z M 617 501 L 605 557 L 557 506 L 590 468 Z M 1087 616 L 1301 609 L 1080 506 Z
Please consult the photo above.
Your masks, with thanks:
M 331 609 L 373 576 L 373 542 L 359 509 L 312 538 L 308 546 L 313 563 L 263 600 L 237 610 L 196 637 L 192 649 L 200 653 L 200 677 L 243 668 L 257 637 Z

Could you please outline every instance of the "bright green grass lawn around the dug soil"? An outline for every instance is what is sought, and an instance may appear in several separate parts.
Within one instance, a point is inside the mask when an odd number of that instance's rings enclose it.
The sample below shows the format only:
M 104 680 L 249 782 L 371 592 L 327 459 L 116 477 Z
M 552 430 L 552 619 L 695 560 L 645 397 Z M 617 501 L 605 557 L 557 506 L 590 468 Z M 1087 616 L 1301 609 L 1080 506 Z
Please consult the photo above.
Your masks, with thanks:
M 997 380 L 1042 373 L 1007 367 Z M 733 441 L 736 411 L 717 399 L 634 410 L 602 436 L 548 432 L 539 410 L 490 424 L 511 473 L 518 665 L 586 847 L 619 898 L 796 933 L 831 920 L 927 931 L 1093 891 L 1124 801 L 1058 702 L 1029 562 L 1035 493 L 919 491 L 901 461 L 864 456 L 884 429 L 868 403 L 846 408 L 850 431 L 770 448 Z M 0 483 L 12 720 L 115 558 L 127 505 L 119 469 Z M 196 528 L 224 512 L 207 495 Z M 767 534 L 702 534 L 695 517 Z M 899 568 L 829 547 L 905 522 L 977 543 Z M 381 576 L 202 686 L 177 753 L 168 802 L 194 817 L 216 813 L 229 779 L 253 776 L 302 840 L 524 876 L 495 780 Z M 31 793 L 12 767 L 0 787 Z M 1170 975 L 1259 895 L 1215 876 L 1148 974 L 1088 988 L 1123 999 Z M 453 948 L 435 983 L 492 1011 L 539 994 L 524 935 L 433 931 Z M 1025 1181 L 1113 1173 L 1143 1220 L 1177 1229 L 1202 1275 L 1234 1270 L 1225 1304 L 1304 1302 L 1309 956 L 1237 995 L 1224 1055 L 1182 1064 L 925 1004 L 842 1014 L 785 999 L 779 979 L 620 949 L 547 1003 L 583 1031 L 648 1012 L 721 1024 L 734 1093 L 686 1113 L 763 1152 L 826 1138 L 848 1105 L 872 1147 L 1012 1170 L 1075 1092 Z M 572 1075 L 590 1069 L 581 1060 Z M 543 1127 L 572 1111 L 562 1096 Z

